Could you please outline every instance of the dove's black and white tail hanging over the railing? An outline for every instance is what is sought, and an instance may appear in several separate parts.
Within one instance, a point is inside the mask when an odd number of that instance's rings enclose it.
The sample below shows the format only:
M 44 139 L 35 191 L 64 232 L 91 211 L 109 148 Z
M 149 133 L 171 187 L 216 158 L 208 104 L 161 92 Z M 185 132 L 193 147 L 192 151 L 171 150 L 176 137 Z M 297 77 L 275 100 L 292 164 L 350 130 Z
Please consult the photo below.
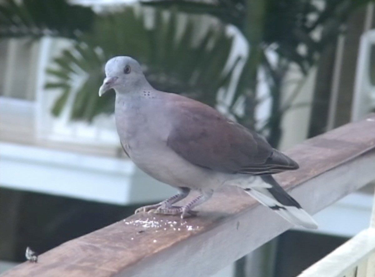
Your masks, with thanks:
M 260 176 L 270 187 L 254 186 L 245 188 L 261 204 L 270 207 L 287 221 L 305 228 L 317 229 L 317 222 L 302 209 L 301 205 L 294 200 L 271 175 Z

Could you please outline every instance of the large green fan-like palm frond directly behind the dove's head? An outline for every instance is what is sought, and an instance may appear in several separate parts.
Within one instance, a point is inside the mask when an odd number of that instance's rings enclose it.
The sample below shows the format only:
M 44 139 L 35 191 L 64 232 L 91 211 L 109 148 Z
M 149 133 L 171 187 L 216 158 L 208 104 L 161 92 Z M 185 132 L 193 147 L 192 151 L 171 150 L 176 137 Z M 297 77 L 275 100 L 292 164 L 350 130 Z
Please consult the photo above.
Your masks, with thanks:
M 152 28 L 145 27 L 146 16 L 150 16 L 150 8 L 136 13 L 133 7 L 126 7 L 121 12 L 98 15 L 92 32 L 79 36 L 72 47 L 54 58 L 47 71 L 53 81 L 46 87 L 60 87 L 62 91 L 52 110 L 55 115 L 62 112 L 67 94 L 72 93 L 72 119 L 92 120 L 100 113 L 112 113 L 114 95 L 108 93 L 99 99 L 97 91 L 104 79 L 105 62 L 115 55 L 132 56 L 146 65 L 147 79 L 159 90 L 216 104 L 217 91 L 228 85 L 232 75 L 233 66 L 225 72 L 223 68 L 233 39 L 223 28 L 211 26 L 194 43 L 200 27 L 196 19 L 186 18 L 179 35 L 177 13 L 154 10 L 157 24 L 154 22 Z M 78 90 L 72 80 L 81 81 Z

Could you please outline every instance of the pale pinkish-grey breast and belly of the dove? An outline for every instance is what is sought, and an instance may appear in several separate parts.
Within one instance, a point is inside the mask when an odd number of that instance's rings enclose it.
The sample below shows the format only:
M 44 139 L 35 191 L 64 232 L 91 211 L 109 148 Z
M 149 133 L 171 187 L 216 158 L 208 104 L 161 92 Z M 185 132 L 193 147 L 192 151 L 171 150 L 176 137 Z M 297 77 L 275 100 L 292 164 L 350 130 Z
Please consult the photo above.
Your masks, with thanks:
M 131 103 L 116 101 L 116 126 L 127 154 L 141 170 L 173 187 L 200 189 L 204 183 L 205 188 L 216 189 L 226 181 L 222 174 L 189 163 L 166 145 L 171 127 L 161 111 L 165 107 L 160 103 L 152 107 L 152 101 Z

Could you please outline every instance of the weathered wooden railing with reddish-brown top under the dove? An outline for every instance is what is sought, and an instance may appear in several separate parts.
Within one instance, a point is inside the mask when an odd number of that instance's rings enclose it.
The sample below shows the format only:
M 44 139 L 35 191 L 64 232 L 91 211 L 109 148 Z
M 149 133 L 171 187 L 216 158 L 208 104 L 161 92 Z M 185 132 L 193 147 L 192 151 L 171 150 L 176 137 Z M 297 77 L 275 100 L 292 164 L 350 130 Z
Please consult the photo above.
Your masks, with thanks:
M 287 154 L 300 169 L 276 178 L 314 214 L 375 179 L 375 115 L 308 139 Z M 197 217 L 133 215 L 4 277 L 210 276 L 290 227 L 251 197 L 227 189 L 199 206 Z

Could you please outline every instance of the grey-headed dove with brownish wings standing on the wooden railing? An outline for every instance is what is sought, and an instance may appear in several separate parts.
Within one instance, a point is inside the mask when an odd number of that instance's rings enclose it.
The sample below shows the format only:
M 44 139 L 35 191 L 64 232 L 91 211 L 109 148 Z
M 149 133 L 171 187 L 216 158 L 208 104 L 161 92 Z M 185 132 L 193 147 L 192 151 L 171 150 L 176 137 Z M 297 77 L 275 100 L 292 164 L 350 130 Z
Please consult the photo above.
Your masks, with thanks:
M 154 89 L 141 66 L 128 56 L 105 65 L 99 96 L 114 89 L 115 121 L 127 156 L 145 173 L 179 193 L 137 212 L 194 215 L 218 188 L 234 185 L 293 224 L 317 228 L 314 219 L 271 174 L 298 164 L 246 129 L 201 102 Z M 190 191 L 199 196 L 173 206 Z

